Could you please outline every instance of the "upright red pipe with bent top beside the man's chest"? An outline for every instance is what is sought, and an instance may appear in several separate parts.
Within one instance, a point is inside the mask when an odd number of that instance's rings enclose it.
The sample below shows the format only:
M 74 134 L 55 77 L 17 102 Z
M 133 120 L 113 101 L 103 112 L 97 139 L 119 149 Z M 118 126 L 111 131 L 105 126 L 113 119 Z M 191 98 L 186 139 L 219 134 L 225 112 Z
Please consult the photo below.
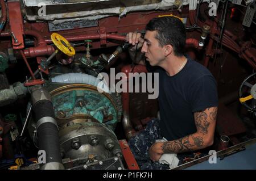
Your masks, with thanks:
M 129 73 L 147 73 L 146 66 L 143 65 L 135 65 L 134 67 L 131 65 L 125 65 L 121 69 L 122 73 L 126 74 L 125 80 L 127 82 L 127 90 L 129 90 Z M 134 136 L 136 132 L 131 124 L 131 120 L 129 119 L 130 113 L 130 97 L 129 92 L 122 92 L 122 105 L 123 105 L 123 129 L 125 129 L 125 136 L 129 140 Z

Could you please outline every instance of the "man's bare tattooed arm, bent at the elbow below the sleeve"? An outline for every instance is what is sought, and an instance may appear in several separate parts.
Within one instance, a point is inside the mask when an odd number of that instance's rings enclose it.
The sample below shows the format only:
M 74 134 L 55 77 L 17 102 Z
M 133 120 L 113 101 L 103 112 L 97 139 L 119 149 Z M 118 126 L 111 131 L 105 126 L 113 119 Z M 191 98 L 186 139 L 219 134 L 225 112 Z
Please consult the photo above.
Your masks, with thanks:
M 195 112 L 194 117 L 197 132 L 178 140 L 164 142 L 162 145 L 163 153 L 181 153 L 199 150 L 213 144 L 217 107 Z

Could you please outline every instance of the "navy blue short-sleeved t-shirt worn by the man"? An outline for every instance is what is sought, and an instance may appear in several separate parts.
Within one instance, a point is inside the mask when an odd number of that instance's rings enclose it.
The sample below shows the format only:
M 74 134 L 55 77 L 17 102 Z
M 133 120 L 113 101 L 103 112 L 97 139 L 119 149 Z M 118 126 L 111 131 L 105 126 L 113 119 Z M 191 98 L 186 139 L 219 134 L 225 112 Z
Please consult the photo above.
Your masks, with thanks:
M 210 71 L 189 57 L 179 73 L 159 73 L 160 131 L 168 141 L 195 133 L 194 112 L 218 106 L 217 83 Z M 152 68 L 152 67 L 151 67 Z

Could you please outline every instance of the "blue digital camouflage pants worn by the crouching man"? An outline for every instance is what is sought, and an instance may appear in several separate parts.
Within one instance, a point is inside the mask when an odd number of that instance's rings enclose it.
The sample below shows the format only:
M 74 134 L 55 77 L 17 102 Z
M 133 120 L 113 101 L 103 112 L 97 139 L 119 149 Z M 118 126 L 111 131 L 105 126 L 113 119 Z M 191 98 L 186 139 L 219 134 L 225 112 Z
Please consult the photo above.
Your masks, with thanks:
M 160 134 L 159 119 L 153 119 L 147 123 L 146 129 L 139 132 L 137 136 L 131 138 L 128 142 L 140 169 L 142 170 L 163 170 L 170 169 L 169 165 L 153 162 L 150 159 L 148 150 L 156 140 L 162 140 Z

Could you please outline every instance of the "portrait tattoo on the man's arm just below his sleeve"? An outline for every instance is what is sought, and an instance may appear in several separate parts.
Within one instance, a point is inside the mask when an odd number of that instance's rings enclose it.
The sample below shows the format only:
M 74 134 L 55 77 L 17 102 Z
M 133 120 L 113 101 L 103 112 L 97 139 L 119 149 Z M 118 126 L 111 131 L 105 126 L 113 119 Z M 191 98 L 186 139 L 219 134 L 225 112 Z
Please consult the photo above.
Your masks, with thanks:
M 195 112 L 195 123 L 196 128 L 200 130 L 201 133 L 207 134 L 208 127 L 210 125 L 209 121 L 207 121 L 207 113 L 205 111 Z

